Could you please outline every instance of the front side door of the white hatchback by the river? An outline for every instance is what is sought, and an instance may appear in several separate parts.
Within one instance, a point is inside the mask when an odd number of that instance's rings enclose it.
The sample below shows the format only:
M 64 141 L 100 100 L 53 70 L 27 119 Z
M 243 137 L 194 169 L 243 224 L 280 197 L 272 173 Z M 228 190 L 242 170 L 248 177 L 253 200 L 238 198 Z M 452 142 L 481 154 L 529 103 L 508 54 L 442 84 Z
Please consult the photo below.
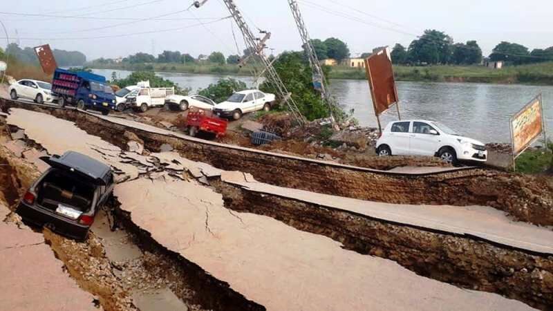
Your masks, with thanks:
M 440 147 L 440 134 L 427 122 L 413 122 L 409 135 L 410 153 L 417 156 L 434 156 Z

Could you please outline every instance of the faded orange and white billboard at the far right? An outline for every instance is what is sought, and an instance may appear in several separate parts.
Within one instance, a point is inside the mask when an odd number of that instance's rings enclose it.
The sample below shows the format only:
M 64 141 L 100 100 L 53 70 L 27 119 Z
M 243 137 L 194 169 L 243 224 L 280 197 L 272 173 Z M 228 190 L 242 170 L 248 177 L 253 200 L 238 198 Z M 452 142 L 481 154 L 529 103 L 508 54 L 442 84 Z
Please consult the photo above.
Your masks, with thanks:
M 511 117 L 513 156 L 523 153 L 541 134 L 545 133 L 541 95 Z

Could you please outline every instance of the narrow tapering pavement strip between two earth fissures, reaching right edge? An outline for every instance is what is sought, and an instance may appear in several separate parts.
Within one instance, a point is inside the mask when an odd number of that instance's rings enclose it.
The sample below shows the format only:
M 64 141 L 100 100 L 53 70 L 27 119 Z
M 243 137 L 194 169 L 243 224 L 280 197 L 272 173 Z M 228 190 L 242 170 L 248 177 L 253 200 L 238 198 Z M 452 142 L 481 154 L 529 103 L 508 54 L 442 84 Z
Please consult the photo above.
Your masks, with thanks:
M 530 252 L 553 254 L 553 231 L 528 223 L 514 222 L 503 211 L 491 207 L 450 205 L 399 205 L 370 202 L 353 198 L 316 194 L 310 191 L 250 182 L 240 172 L 225 172 L 221 180 L 250 191 L 273 194 L 310 202 L 371 218 L 420 228 L 449 232 L 527 249 Z

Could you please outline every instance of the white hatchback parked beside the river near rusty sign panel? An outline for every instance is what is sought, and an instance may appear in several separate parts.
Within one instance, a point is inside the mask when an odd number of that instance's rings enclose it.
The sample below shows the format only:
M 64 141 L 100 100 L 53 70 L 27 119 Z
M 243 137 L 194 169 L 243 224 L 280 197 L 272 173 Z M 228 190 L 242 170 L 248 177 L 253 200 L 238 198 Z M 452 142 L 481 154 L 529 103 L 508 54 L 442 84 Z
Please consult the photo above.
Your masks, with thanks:
M 440 122 L 402 120 L 386 126 L 377 140 L 379 156 L 437 156 L 448 163 L 485 162 L 485 144 L 458 135 Z

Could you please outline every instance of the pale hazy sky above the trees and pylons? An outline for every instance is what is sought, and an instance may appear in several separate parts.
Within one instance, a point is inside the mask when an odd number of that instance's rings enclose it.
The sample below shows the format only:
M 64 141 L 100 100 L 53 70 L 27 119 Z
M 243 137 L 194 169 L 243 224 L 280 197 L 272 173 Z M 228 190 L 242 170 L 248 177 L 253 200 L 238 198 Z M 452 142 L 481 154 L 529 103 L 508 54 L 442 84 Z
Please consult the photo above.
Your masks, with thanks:
M 229 16 L 222 0 L 208 0 L 203 7 L 188 11 L 188 0 L 4 1 L 10 6 L 3 6 L 0 21 L 7 28 L 10 42 L 19 38 L 21 46 L 50 44 L 52 48 L 79 50 L 88 60 L 138 52 L 158 55 L 163 50 L 179 50 L 194 57 L 213 51 L 230 55 L 237 53 L 236 44 L 240 50 L 244 48 L 232 19 L 222 19 Z M 234 2 L 252 32 L 272 32 L 268 41 L 272 53 L 301 49 L 287 0 Z M 353 57 L 378 46 L 409 46 L 425 29 L 444 31 L 456 42 L 476 40 L 485 55 L 500 41 L 523 44 L 530 50 L 553 46 L 551 0 L 534 0 L 531 5 L 512 0 L 298 3 L 312 39 L 342 39 Z M 6 46 L 6 36 L 0 33 L 0 46 Z

